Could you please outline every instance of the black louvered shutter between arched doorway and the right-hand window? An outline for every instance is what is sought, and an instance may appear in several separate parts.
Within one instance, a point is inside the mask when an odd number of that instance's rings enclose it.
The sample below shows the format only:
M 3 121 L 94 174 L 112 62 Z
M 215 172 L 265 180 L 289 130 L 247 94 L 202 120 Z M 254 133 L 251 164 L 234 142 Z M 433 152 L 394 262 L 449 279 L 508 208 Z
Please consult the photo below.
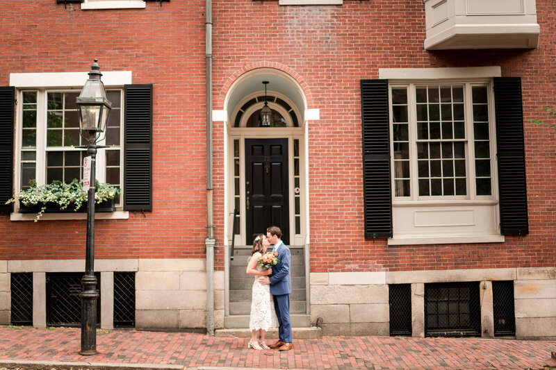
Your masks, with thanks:
M 365 237 L 392 237 L 388 80 L 361 80 Z

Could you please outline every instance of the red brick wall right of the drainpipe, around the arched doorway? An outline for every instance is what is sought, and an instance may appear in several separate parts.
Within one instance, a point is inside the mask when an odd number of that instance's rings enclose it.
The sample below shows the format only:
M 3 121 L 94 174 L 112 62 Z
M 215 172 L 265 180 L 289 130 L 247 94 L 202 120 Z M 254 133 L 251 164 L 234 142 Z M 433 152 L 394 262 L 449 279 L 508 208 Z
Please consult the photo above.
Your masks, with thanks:
M 422 1 L 215 2 L 215 91 L 246 65 L 276 62 L 302 76 L 314 104 L 308 108 L 320 108 L 320 120 L 309 128 L 311 271 L 553 266 L 556 131 L 528 122 L 530 235 L 506 237 L 503 244 L 428 246 L 364 239 L 359 92 L 360 79 L 378 78 L 379 68 L 500 65 L 502 76 L 523 78 L 525 118 L 540 115 L 540 108 L 554 105 L 553 10 L 550 1 L 537 1 L 541 43 L 536 50 L 426 51 Z M 221 104 L 215 109 L 223 109 Z M 216 155 L 215 174 L 221 174 L 222 154 Z M 216 215 L 222 215 L 221 186 L 216 199 Z

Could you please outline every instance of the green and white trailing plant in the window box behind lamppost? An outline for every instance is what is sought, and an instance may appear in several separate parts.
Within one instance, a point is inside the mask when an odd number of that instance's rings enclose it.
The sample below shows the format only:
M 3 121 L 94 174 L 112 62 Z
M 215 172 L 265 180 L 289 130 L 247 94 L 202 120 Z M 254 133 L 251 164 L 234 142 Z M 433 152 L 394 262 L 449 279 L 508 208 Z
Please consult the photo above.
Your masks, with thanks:
M 114 185 L 107 183 L 99 183 L 95 180 L 95 203 L 102 203 L 109 199 L 114 199 L 120 195 L 120 189 Z M 29 187 L 14 194 L 11 199 L 8 199 L 6 204 L 15 203 L 18 201 L 27 207 L 34 205 L 42 205 L 38 212 L 35 222 L 40 219 L 45 210 L 47 210 L 47 203 L 56 203 L 60 206 L 60 210 L 65 210 L 68 207 L 79 210 L 83 203 L 88 200 L 88 192 L 83 190 L 83 180 L 74 179 L 71 183 L 66 184 L 60 180 L 54 180 L 52 183 L 45 185 L 37 185 L 35 180 L 29 180 Z

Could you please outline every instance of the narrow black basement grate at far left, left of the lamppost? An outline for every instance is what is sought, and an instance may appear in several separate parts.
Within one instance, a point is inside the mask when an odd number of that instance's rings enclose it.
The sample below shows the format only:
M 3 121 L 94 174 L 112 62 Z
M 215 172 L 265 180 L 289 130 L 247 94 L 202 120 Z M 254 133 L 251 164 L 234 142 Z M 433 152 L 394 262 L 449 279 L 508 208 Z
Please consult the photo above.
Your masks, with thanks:
M 33 273 L 11 274 L 12 325 L 33 325 Z

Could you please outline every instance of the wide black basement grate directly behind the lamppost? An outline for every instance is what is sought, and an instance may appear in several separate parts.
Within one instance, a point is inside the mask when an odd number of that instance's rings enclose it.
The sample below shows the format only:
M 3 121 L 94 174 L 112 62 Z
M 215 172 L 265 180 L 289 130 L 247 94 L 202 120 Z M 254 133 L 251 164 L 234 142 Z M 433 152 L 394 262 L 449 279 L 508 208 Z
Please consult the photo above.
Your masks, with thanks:
M 97 276 L 97 291 L 100 274 Z M 47 274 L 47 325 L 81 326 L 81 285 L 83 272 Z M 100 294 L 100 292 L 99 292 Z M 97 326 L 100 325 L 100 295 L 97 298 Z

